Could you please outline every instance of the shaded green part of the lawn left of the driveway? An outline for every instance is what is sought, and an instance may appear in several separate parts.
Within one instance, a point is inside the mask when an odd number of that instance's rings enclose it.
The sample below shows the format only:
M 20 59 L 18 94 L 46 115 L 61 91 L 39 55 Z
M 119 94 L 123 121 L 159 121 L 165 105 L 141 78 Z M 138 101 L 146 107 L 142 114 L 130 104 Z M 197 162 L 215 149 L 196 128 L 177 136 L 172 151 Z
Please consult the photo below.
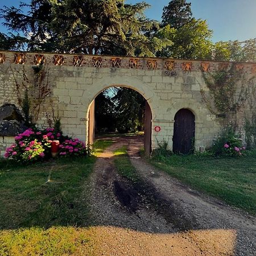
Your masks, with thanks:
M 17 165 L 0 163 L 0 229 L 86 225 L 88 207 L 81 200 L 95 157 Z

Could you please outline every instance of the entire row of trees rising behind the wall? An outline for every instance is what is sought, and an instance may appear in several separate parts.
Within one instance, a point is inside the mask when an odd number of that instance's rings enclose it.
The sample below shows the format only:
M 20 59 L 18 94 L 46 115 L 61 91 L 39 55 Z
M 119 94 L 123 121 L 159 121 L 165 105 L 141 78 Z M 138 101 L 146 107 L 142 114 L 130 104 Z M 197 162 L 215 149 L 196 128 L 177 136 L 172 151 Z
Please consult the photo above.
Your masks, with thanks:
M 191 3 L 170 1 L 162 22 L 144 15 L 148 7 L 124 0 L 31 0 L 3 7 L 1 18 L 10 33 L 0 33 L 0 48 L 256 61 L 256 38 L 213 43 L 207 21 L 193 18 Z

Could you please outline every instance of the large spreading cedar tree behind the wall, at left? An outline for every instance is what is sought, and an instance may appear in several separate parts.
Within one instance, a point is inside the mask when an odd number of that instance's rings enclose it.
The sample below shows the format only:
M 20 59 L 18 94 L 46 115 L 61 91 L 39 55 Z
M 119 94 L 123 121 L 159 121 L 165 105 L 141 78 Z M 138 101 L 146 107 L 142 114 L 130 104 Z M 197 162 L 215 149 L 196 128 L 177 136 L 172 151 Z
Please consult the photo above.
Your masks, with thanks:
M 11 31 L 30 40 L 31 51 L 154 56 L 167 45 L 147 32 L 159 26 L 147 19 L 147 3 L 124 0 L 31 0 L 19 8 L 4 7 L 1 18 Z M 28 8 L 24 14 L 23 8 Z M 163 43 L 162 43 L 163 42 Z

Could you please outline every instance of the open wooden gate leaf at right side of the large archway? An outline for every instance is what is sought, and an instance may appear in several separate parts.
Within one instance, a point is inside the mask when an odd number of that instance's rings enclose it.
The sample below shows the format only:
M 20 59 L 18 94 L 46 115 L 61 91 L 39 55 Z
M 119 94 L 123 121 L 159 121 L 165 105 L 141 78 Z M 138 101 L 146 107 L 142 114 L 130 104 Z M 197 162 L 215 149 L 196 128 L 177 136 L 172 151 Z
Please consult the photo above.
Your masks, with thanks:
M 144 151 L 146 156 L 150 156 L 151 153 L 151 109 L 146 101 L 145 109 L 145 121 L 144 121 Z

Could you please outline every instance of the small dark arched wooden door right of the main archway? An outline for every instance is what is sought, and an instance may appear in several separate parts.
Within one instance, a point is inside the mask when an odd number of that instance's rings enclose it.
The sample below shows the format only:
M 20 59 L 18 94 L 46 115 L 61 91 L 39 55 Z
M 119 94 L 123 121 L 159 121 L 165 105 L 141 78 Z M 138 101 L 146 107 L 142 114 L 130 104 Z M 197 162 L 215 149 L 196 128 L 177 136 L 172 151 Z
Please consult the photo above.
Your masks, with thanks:
M 176 154 L 193 152 L 195 141 L 195 115 L 188 109 L 180 109 L 174 117 L 173 151 Z

